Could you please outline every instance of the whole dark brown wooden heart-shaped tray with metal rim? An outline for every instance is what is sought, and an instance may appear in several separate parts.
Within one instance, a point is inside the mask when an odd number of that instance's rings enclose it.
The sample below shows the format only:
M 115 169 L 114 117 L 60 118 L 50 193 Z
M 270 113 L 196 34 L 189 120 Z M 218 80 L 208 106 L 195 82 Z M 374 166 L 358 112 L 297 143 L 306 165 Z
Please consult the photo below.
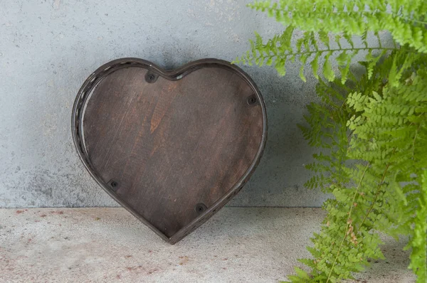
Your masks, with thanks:
M 83 83 L 72 133 L 95 181 L 174 244 L 251 177 L 265 147 L 267 116 L 253 80 L 227 61 L 163 70 L 121 58 Z

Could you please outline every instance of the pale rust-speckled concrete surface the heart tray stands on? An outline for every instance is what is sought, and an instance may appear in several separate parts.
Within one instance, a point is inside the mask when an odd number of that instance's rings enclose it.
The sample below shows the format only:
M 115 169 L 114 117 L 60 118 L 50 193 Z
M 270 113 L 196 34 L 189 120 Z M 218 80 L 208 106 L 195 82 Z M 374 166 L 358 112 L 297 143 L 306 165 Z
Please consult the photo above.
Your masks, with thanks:
M 169 245 L 122 208 L 0 209 L 0 282 L 278 282 L 323 215 L 224 208 Z M 384 240 L 387 260 L 356 282 L 415 282 L 405 242 Z

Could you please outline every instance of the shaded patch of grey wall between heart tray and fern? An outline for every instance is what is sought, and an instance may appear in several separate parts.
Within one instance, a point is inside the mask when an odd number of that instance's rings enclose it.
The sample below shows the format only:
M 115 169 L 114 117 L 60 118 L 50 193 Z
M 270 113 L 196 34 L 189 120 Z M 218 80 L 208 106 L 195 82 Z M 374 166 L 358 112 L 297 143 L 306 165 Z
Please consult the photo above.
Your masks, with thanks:
M 302 83 L 292 67 L 284 78 L 273 68 L 244 69 L 265 99 L 268 141 L 251 181 L 229 205 L 320 207 L 327 196 L 320 190 L 304 187 L 312 176 L 304 166 L 313 161 L 316 149 L 307 144 L 297 127 L 305 124 L 306 105 L 317 100 L 316 80 Z

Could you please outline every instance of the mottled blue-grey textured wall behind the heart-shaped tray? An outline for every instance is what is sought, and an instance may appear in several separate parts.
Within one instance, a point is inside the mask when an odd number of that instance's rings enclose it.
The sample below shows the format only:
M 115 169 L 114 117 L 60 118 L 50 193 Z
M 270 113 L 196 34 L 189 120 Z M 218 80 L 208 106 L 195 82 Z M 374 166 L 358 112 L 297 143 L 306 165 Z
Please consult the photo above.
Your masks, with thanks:
M 233 60 L 253 31 L 283 27 L 243 0 L 0 0 L 0 207 L 116 205 L 80 164 L 70 112 L 81 83 L 121 57 L 176 68 L 200 58 Z M 231 205 L 318 206 L 303 164 L 312 149 L 296 127 L 315 99 L 297 66 L 244 67 L 265 97 L 269 139 L 250 183 Z

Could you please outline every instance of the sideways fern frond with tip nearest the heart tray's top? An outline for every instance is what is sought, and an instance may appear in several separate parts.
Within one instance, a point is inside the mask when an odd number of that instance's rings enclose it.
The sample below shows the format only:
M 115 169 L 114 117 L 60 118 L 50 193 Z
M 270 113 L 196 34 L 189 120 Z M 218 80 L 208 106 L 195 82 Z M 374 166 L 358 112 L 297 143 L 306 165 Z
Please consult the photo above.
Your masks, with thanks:
M 306 63 L 310 62 L 313 75 L 318 77 L 319 61 L 324 60 L 322 66 L 322 75 L 328 81 L 333 81 L 336 72 L 332 68 L 332 58 L 337 57 L 336 61 L 341 73 L 342 83 L 346 82 L 349 75 L 350 64 L 352 59 L 360 52 L 367 52 L 369 55 L 366 60 L 375 65 L 376 62 L 385 55 L 387 51 L 394 50 L 391 47 L 366 46 L 359 48 L 330 48 L 330 37 L 336 36 L 327 33 L 319 33 L 316 38 L 315 33 L 306 31 L 300 38 L 296 39 L 295 47 L 292 46 L 292 33 L 295 28 L 288 26 L 280 35 L 273 36 L 266 43 L 258 33 L 255 33 L 255 42 L 250 41 L 251 50 L 240 58 L 236 58 L 233 63 L 243 63 L 246 65 L 274 65 L 280 75 L 286 73 L 286 63 L 297 58 L 300 61 L 300 78 L 305 81 L 304 68 Z M 339 37 L 339 35 L 337 35 Z M 351 42 L 351 41 L 350 41 Z M 352 42 L 351 42 L 352 43 Z M 379 55 L 372 55 L 378 51 Z

